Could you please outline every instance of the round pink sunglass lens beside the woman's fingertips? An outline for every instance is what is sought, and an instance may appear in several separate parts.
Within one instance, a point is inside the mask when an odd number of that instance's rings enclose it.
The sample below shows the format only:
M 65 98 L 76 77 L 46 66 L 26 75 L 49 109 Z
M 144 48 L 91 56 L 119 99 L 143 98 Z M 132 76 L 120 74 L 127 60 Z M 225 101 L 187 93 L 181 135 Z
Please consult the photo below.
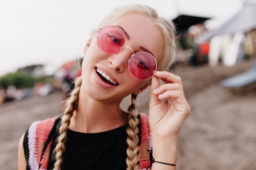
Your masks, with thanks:
M 128 68 L 133 77 L 145 80 L 153 76 L 153 71 L 157 69 L 157 63 L 149 53 L 139 52 L 131 57 Z

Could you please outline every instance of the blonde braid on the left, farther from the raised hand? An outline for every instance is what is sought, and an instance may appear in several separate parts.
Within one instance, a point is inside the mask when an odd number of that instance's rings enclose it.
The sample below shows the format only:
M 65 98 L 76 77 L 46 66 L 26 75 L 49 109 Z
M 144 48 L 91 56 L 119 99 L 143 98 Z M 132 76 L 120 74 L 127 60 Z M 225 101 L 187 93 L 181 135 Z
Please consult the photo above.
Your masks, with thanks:
M 74 110 L 77 109 L 78 96 L 80 91 L 80 86 L 82 83 L 82 77 L 78 77 L 75 81 L 75 88 L 72 90 L 70 98 L 67 99 L 65 104 L 65 112 L 61 117 L 61 127 L 59 130 L 58 143 L 54 149 L 56 155 L 56 162 L 54 163 L 53 170 L 60 170 L 61 164 L 63 163 L 63 153 L 65 152 L 65 142 L 67 139 L 67 128 L 70 125 L 70 119 L 73 116 Z

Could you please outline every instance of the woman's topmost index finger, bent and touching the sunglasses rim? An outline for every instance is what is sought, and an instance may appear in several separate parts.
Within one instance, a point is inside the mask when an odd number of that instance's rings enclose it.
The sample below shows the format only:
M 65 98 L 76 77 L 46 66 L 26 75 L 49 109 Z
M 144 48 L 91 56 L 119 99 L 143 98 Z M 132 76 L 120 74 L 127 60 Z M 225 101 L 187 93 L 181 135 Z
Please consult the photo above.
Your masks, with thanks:
M 182 89 L 182 79 L 174 75 L 173 73 L 169 73 L 167 71 L 156 71 L 155 74 L 157 75 L 157 78 L 162 79 L 163 82 L 165 83 L 178 83 L 181 85 Z

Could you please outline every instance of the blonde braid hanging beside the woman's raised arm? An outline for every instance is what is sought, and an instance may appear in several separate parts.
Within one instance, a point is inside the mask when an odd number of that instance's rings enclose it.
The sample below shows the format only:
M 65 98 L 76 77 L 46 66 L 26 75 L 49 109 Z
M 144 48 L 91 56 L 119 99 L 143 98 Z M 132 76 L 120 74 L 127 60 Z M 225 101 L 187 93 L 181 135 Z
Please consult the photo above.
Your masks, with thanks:
M 136 108 L 136 97 L 137 96 L 132 93 L 130 98 L 131 104 L 128 107 L 128 112 L 130 115 L 128 116 L 129 126 L 126 128 L 126 132 L 128 134 L 126 139 L 128 144 L 128 148 L 126 150 L 126 164 L 128 167 L 126 170 L 139 170 L 139 119 L 137 118 L 138 110 Z

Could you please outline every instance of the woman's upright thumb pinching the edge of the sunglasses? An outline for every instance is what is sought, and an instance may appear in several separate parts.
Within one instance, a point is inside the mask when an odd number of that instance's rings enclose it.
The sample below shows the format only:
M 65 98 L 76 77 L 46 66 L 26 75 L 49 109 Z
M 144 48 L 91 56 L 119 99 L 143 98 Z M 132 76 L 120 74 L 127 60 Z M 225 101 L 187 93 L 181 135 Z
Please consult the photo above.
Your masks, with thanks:
M 158 95 L 153 94 L 153 91 L 160 86 L 159 79 L 155 76 L 152 77 L 151 80 L 151 88 L 150 88 L 150 101 L 149 101 L 149 108 L 155 106 L 156 104 L 160 104 L 160 99 Z

